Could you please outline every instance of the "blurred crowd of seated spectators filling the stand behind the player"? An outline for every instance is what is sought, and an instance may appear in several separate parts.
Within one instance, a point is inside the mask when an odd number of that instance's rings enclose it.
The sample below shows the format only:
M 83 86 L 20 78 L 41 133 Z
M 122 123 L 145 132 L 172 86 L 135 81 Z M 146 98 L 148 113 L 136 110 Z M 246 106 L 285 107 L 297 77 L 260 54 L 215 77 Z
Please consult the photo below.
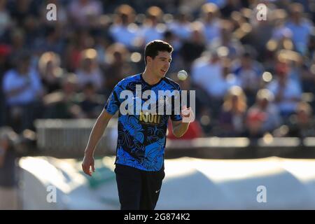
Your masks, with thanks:
M 311 0 L 0 0 L 0 127 L 97 118 L 161 39 L 174 47 L 167 76 L 196 90 L 186 138 L 314 137 L 314 22 Z

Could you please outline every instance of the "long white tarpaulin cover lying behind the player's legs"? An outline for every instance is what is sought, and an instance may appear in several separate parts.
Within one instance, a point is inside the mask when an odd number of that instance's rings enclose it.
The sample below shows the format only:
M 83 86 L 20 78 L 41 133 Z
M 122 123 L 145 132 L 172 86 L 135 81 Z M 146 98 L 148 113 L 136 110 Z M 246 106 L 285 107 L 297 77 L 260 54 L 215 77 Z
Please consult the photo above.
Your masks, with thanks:
M 113 160 L 91 179 L 75 160 L 22 158 L 23 208 L 119 209 Z M 315 160 L 179 158 L 165 173 L 156 209 L 315 209 Z

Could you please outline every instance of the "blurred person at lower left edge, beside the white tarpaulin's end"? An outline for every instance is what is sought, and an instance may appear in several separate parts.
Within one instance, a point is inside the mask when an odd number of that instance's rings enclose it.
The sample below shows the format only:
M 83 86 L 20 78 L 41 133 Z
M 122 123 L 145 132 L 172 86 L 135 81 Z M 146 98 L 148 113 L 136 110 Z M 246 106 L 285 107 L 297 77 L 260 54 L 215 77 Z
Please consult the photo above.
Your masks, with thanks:
M 0 210 L 19 209 L 16 153 L 13 146 L 17 137 L 11 127 L 0 127 Z

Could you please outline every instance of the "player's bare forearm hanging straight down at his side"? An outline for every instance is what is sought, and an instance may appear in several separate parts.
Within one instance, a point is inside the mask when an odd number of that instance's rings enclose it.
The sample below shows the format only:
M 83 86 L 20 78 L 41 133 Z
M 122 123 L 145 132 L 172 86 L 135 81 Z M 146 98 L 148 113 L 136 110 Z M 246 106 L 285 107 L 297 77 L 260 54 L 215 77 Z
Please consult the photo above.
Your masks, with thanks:
M 87 146 L 85 149 L 85 154 L 93 155 L 95 148 L 104 134 L 104 130 L 109 124 L 109 119 L 102 119 L 101 117 L 97 118 L 97 122 L 95 123 L 92 132 L 90 134 L 89 141 L 87 142 Z

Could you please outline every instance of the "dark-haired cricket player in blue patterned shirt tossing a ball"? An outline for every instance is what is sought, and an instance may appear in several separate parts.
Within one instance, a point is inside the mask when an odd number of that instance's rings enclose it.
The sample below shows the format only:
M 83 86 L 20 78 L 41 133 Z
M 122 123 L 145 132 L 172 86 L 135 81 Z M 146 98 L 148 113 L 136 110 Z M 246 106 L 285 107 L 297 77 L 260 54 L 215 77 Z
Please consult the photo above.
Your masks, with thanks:
M 115 173 L 120 209 L 155 209 L 162 179 L 165 177 L 164 151 L 167 122 L 169 118 L 172 119 L 173 134 L 181 137 L 187 131 L 190 120 L 194 119 L 192 109 L 183 106 L 183 111 L 180 111 L 179 108 L 176 109 L 176 105 L 172 106 L 170 102 L 163 102 L 162 110 L 158 110 L 159 106 L 156 106 L 156 113 L 148 113 L 143 107 L 145 97 L 142 94 L 146 90 L 156 95 L 161 90 L 181 92 L 179 84 L 165 78 L 172 61 L 172 51 L 172 46 L 164 41 L 151 41 L 146 45 L 144 73 L 124 78 L 114 87 L 104 110 L 97 118 L 85 149 L 82 168 L 85 174 L 91 176 L 94 172 L 94 149 L 109 120 L 119 109 Z M 131 98 L 134 102 L 132 109 L 137 108 L 137 100 L 138 102 L 140 100 L 141 111 L 139 113 L 137 113 L 137 109 L 136 113 L 125 113 L 125 106 L 122 106 L 122 104 L 125 105 L 125 97 L 122 97 L 125 95 L 123 94 L 125 90 L 132 92 Z M 139 96 L 138 90 L 141 90 L 141 96 Z M 147 99 L 154 101 L 155 98 L 151 97 Z M 163 97 L 163 101 L 164 99 Z M 128 100 L 130 101 L 130 97 Z M 157 104 L 160 100 L 160 98 L 156 98 Z M 165 107 L 169 105 L 172 107 L 171 114 L 165 112 Z M 176 114 L 176 110 L 180 113 Z M 185 118 L 185 122 L 182 118 Z

